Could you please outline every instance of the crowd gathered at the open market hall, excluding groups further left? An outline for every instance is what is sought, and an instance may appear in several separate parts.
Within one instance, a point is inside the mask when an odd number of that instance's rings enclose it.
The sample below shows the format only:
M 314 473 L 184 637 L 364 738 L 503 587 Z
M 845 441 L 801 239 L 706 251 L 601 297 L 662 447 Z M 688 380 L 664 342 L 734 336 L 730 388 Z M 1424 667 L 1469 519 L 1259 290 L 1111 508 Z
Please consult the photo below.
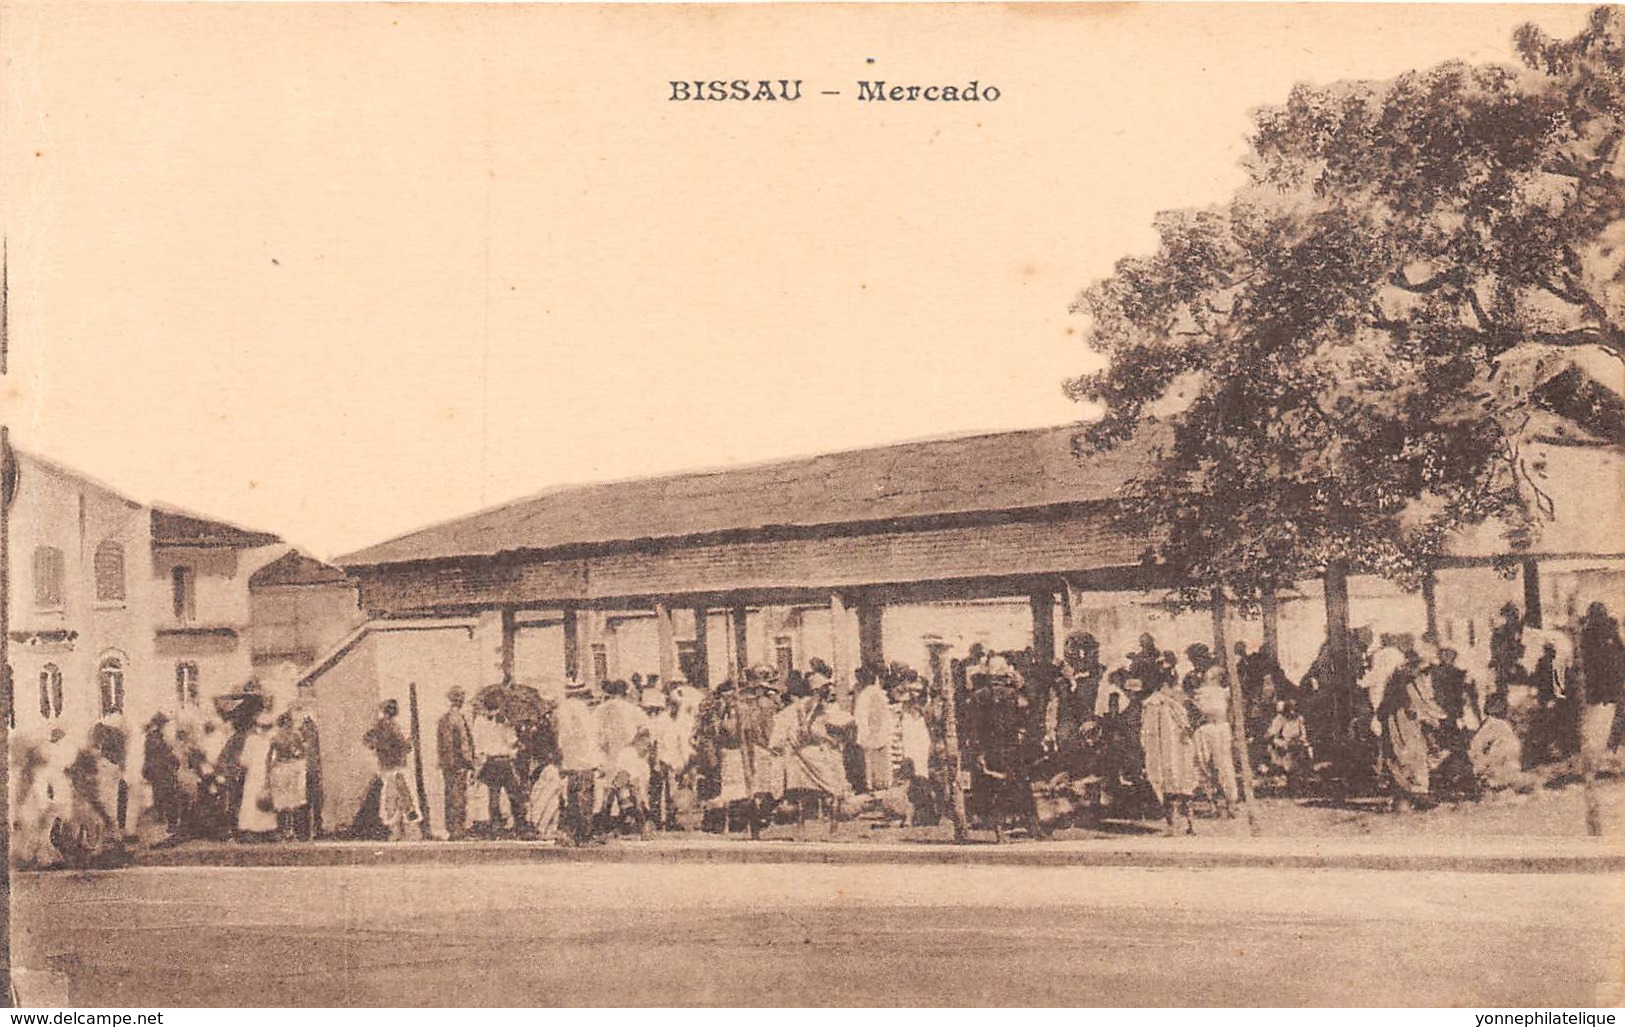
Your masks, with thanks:
M 1107 670 L 1086 632 L 1053 663 L 973 645 L 938 681 L 895 663 L 863 666 L 850 699 L 817 660 L 806 673 L 757 666 L 715 689 L 637 674 L 572 682 L 559 704 L 491 686 L 471 710 L 452 692 L 436 756 L 453 838 L 757 834 L 863 814 L 930 826 L 956 816 L 956 782 L 967 826 L 999 834 L 1045 835 L 1108 814 L 1194 830 L 1196 800 L 1235 816 L 1242 777 L 1268 791 L 1383 796 L 1414 809 L 1441 795 L 1528 791 L 1534 765 L 1581 744 L 1607 769 L 1625 647 L 1602 604 L 1588 611 L 1578 645 L 1580 661 L 1565 635 L 1524 630 L 1508 609 L 1482 684 L 1450 648 L 1358 629 L 1347 647 L 1352 691 L 1336 689 L 1324 647 L 1294 681 L 1268 647 L 1238 644 L 1225 666 L 1206 644 L 1178 653 L 1147 634 Z M 401 738 L 395 717 L 385 704 L 367 741 L 379 754 L 375 793 L 398 796 L 364 806 L 358 830 L 375 837 L 401 837 L 421 817 L 400 777 L 400 743 L 379 746 Z M 474 785 L 484 785 L 486 817 L 470 826 Z

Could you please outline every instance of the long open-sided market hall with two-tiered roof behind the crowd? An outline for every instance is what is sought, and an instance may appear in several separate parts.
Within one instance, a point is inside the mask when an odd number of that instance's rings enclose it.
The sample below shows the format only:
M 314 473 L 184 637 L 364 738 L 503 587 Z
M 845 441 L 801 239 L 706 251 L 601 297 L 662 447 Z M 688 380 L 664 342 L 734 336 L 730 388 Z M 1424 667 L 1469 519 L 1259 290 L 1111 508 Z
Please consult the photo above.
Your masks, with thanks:
M 1167 648 L 1211 639 L 1207 614 L 1165 601 L 1165 570 L 1113 518 L 1155 439 L 1079 455 L 1076 426 L 908 442 L 759 466 L 556 489 L 340 557 L 367 622 L 302 679 L 330 738 L 359 738 L 387 697 L 421 725 L 445 692 L 632 673 L 715 684 L 754 663 L 850 687 L 855 668 L 916 668 L 991 648 L 1056 652 L 1068 630 L 1108 661 L 1149 630 Z M 1425 595 L 1350 582 L 1354 624 L 1433 622 L 1484 663 L 1506 601 L 1554 613 L 1625 583 L 1615 447 L 1542 444 L 1558 518 L 1506 574 L 1493 526 L 1461 540 Z M 1258 621 L 1232 639 L 1258 644 Z M 1282 596 L 1279 648 L 1302 673 L 1324 639 L 1320 587 Z M 370 777 L 359 746 L 328 744 L 330 822 Z M 422 751 L 422 746 L 419 746 Z M 427 756 L 432 760 L 432 752 Z M 344 765 L 333 765 L 340 760 Z M 427 767 L 429 808 L 439 775 Z M 436 814 L 437 816 L 437 814 Z M 437 827 L 437 824 L 436 824 Z

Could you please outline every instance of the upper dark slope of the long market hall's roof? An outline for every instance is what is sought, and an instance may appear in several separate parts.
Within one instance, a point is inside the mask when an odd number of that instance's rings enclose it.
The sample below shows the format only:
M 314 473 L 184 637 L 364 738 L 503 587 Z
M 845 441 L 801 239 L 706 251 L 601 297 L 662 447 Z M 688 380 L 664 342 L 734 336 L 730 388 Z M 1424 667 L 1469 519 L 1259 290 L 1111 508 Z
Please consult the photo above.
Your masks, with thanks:
M 1079 458 L 1079 426 L 905 442 L 757 466 L 552 489 L 361 549 L 344 567 L 772 526 L 1020 510 L 1112 499 L 1164 436 Z

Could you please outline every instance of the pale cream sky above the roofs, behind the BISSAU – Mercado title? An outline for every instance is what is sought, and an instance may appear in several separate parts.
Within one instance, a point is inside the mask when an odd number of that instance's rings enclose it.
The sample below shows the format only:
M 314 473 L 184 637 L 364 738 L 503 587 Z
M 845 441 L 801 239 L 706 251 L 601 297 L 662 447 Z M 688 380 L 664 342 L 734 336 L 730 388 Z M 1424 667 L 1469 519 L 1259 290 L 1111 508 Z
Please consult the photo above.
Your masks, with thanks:
M 1068 304 L 1228 195 L 1250 109 L 1586 10 L 0 3 L 3 413 L 322 557 L 566 483 L 1076 419 Z

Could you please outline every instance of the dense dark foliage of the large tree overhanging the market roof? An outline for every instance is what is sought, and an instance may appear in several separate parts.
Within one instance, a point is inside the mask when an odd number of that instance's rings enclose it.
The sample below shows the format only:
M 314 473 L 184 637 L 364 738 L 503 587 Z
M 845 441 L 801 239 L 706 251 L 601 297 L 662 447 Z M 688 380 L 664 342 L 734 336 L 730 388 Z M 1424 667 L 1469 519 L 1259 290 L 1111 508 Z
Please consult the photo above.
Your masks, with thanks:
M 1124 517 L 1188 598 L 1332 561 L 1415 585 L 1454 530 L 1516 549 L 1550 517 L 1539 390 L 1580 349 L 1625 359 L 1625 23 L 1516 49 L 1295 88 L 1227 205 L 1160 214 L 1076 301 L 1110 361 L 1068 382 L 1105 408 L 1082 444 L 1170 422 Z

